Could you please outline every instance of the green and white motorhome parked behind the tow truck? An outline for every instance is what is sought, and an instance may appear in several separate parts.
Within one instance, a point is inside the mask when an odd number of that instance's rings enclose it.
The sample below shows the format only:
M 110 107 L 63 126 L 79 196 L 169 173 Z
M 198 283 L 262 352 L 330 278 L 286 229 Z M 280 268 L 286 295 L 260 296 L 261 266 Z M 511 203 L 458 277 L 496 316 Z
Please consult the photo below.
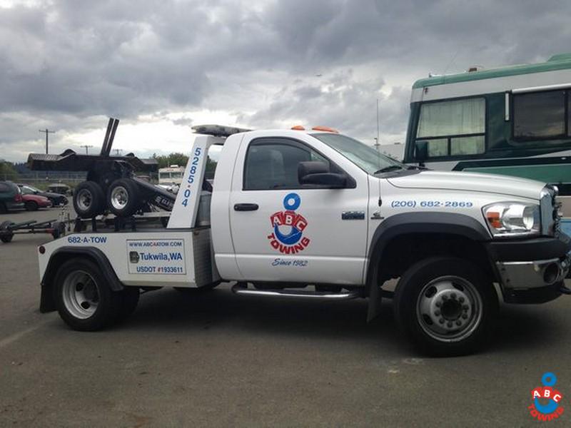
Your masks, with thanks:
M 416 81 L 404 161 L 551 183 L 570 215 L 571 54 Z

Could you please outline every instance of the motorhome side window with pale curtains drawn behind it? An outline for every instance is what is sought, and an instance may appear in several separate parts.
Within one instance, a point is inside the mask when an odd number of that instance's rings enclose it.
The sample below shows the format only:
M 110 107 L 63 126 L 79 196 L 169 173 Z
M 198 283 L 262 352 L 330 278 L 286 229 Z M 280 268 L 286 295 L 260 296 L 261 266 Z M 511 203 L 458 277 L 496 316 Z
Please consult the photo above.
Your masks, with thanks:
M 428 141 L 428 156 L 465 156 L 485 151 L 485 99 L 424 103 L 417 140 Z

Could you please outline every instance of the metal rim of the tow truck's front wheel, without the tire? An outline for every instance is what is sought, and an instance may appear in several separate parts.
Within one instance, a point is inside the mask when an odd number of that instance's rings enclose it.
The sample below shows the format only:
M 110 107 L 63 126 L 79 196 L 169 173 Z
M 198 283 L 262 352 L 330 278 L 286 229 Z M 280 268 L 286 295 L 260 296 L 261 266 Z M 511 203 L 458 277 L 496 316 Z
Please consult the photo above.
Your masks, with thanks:
M 472 282 L 462 277 L 438 277 L 418 295 L 416 316 L 433 339 L 460 342 L 482 321 L 482 297 Z

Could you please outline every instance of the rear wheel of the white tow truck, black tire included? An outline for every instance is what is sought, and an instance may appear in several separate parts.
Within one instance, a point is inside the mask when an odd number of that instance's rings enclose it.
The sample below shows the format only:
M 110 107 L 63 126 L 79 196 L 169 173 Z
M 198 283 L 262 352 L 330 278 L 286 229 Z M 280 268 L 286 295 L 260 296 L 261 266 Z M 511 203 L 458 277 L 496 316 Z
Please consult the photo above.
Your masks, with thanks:
M 89 259 L 74 258 L 62 264 L 53 291 L 59 316 L 74 330 L 101 330 L 118 319 L 121 293 L 109 288 L 98 265 Z

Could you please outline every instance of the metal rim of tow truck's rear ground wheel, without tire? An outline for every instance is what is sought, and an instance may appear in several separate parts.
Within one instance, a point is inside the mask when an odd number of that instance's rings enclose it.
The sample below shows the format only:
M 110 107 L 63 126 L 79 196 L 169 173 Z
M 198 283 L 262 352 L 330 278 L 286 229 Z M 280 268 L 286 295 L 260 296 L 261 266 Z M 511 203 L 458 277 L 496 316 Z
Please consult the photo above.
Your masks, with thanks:
M 62 292 L 66 310 L 74 317 L 86 320 L 96 312 L 99 290 L 94 278 L 84 270 L 67 275 Z

